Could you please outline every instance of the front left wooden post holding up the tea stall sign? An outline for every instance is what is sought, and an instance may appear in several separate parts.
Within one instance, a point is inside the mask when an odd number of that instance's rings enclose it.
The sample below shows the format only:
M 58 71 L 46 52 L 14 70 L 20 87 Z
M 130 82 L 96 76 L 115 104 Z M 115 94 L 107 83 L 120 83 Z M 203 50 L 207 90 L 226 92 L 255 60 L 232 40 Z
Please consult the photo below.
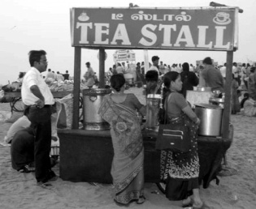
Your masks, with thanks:
M 74 58 L 74 89 L 73 89 L 73 118 L 72 129 L 79 128 L 79 102 L 80 102 L 80 74 L 81 74 L 81 48 L 75 47 Z

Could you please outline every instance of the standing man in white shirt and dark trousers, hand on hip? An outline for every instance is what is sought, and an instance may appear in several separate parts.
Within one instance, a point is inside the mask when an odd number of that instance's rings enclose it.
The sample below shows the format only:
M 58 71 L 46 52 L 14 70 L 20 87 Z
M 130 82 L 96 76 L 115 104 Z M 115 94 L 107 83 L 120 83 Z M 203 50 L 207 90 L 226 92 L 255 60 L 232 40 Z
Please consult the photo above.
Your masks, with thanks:
M 28 55 L 31 69 L 24 76 L 21 97 L 25 104 L 24 114 L 28 116 L 35 133 L 34 160 L 37 185 L 46 188 L 51 186 L 46 183 L 47 181 L 57 179 L 56 174 L 50 169 L 50 117 L 54 97 L 41 76 L 41 72 L 47 69 L 46 52 L 32 50 Z

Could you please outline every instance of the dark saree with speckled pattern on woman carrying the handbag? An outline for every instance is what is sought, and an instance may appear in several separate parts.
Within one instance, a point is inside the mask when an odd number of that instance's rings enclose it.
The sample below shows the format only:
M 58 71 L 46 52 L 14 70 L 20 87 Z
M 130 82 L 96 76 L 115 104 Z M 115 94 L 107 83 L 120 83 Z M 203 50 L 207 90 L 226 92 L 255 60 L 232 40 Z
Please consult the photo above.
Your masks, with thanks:
M 199 188 L 199 158 L 197 154 L 197 126 L 184 113 L 170 120 L 170 124 L 189 126 L 191 149 L 186 153 L 161 151 L 160 174 L 166 182 L 166 196 L 170 200 L 183 200 Z

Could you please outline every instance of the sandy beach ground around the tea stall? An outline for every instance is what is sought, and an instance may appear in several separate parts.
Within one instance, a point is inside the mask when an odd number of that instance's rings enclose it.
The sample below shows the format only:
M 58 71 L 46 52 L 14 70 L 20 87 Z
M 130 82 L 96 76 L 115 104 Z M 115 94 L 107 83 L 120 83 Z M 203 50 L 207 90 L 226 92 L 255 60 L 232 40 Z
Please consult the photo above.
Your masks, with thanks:
M 132 91 L 132 90 L 131 90 Z M 134 87 L 134 92 L 137 87 Z M 132 91 L 132 92 L 133 92 Z M 142 98 L 143 99 L 143 98 Z M 10 111 L 10 104 L 0 103 L 0 111 Z M 12 118 L 20 117 L 14 113 Z M 219 186 L 211 181 L 200 190 L 202 200 L 212 209 L 256 207 L 256 118 L 242 113 L 232 115 L 234 126 L 232 146 L 227 152 L 228 168 L 219 175 Z M 0 122 L 0 141 L 7 134 L 11 122 Z M 59 164 L 54 167 L 59 174 Z M 87 182 L 53 181 L 52 190 L 37 186 L 34 173 L 19 173 L 11 168 L 10 147 L 0 145 L 0 208 L 119 208 L 113 202 L 111 185 Z M 181 208 L 181 202 L 168 201 L 154 183 L 145 183 L 146 201 L 132 203 L 130 208 Z

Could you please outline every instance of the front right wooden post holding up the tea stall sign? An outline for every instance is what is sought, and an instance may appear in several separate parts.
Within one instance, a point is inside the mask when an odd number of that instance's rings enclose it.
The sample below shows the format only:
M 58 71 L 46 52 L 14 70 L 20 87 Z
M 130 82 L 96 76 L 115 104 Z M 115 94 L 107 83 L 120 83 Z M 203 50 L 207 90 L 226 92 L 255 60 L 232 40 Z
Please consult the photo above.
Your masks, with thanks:
M 232 83 L 232 63 L 233 52 L 227 52 L 227 68 L 226 68 L 226 83 L 225 83 L 225 100 L 223 110 L 223 139 L 228 139 L 229 136 L 229 121 L 231 113 L 231 83 Z

